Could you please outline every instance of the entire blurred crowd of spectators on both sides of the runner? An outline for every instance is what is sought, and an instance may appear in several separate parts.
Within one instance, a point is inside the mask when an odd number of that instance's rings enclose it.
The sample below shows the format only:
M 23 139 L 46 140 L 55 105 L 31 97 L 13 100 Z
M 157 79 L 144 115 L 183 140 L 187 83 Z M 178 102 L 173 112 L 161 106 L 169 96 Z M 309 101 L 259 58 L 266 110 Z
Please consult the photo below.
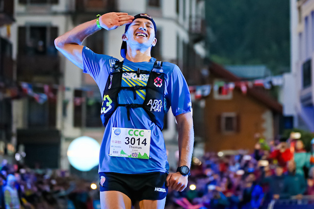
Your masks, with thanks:
M 193 157 L 188 187 L 183 192 L 169 189 L 166 208 L 267 209 L 274 200 L 309 195 L 314 200 L 313 148 L 314 140 L 312 152 L 307 152 L 300 139 L 259 139 L 251 153 Z M 0 209 L 93 209 L 99 189 L 91 189 L 90 183 L 68 171 L 29 169 L 4 159 Z

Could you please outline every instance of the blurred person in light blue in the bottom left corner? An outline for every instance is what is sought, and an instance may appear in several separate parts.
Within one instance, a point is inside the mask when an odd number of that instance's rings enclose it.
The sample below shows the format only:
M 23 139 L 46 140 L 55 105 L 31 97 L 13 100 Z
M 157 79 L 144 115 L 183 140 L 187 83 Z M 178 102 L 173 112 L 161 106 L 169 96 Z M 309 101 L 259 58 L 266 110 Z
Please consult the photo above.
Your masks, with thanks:
M 7 176 L 6 186 L 4 187 L 4 202 L 6 209 L 20 209 L 21 204 L 19 200 L 19 194 L 16 190 L 15 177 L 12 174 Z

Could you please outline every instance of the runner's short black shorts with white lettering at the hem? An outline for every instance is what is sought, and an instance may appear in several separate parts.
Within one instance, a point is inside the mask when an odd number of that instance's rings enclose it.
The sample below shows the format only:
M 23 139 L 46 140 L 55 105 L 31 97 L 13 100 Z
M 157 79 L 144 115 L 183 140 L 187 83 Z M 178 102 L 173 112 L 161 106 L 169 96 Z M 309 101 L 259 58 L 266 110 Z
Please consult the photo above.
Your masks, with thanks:
M 162 200 L 167 196 L 166 173 L 99 173 L 100 191 L 120 191 L 134 204 L 141 200 Z

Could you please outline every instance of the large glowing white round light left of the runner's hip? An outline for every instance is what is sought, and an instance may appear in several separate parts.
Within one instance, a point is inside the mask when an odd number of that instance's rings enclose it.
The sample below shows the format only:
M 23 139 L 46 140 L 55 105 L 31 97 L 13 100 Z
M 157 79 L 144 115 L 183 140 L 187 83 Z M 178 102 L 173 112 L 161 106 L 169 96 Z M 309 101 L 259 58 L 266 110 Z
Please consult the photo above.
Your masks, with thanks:
M 70 164 L 79 171 L 89 171 L 99 164 L 99 143 L 88 136 L 74 139 L 67 152 Z

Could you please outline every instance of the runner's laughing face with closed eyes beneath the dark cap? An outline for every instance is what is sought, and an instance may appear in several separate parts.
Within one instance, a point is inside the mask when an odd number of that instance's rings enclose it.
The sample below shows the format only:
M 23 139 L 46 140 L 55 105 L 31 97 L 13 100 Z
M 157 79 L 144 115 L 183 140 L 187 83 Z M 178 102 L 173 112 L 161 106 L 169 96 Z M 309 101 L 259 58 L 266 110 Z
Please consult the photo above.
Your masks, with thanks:
M 144 18 L 135 19 L 128 28 L 126 36 L 129 44 L 144 45 L 146 47 L 155 46 L 155 28 L 150 20 Z

